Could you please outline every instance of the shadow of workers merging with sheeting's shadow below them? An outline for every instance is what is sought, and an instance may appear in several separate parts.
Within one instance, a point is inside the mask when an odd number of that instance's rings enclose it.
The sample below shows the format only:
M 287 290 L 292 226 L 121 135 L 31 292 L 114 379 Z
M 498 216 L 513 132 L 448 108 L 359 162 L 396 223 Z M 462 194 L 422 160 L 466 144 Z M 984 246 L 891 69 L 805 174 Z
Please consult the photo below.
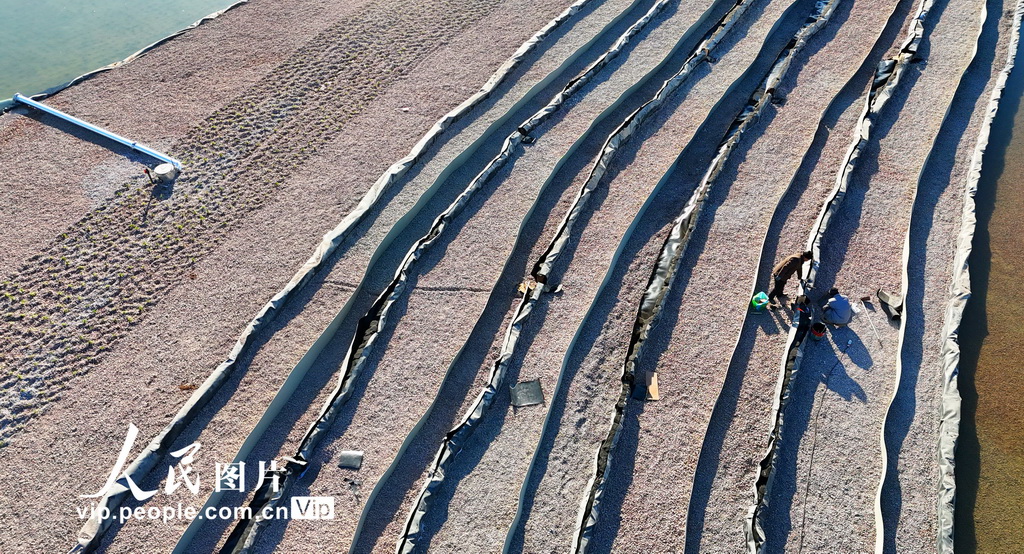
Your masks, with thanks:
M 799 371 L 794 374 L 790 404 L 785 408 L 785 425 L 778 444 L 774 482 L 766 499 L 770 510 L 765 510 L 765 544 L 769 552 L 784 552 L 796 549 L 786 544 L 790 538 L 800 536 L 793 532 L 793 501 L 798 488 L 807 485 L 808 475 L 798 475 L 798 457 L 803 440 L 815 440 L 816 425 L 827 420 L 827 403 L 837 401 L 836 395 L 845 401 L 866 403 L 867 394 L 851 371 L 868 370 L 872 366 L 871 356 L 857 334 L 846 327 L 831 328 L 830 340 L 810 340 L 805 346 L 804 359 Z M 852 343 L 847 346 L 847 341 Z M 824 383 L 825 390 L 818 391 Z M 820 408 L 817 406 L 823 402 Z M 824 414 L 814 421 L 815 414 Z M 811 468 L 801 466 L 802 471 Z

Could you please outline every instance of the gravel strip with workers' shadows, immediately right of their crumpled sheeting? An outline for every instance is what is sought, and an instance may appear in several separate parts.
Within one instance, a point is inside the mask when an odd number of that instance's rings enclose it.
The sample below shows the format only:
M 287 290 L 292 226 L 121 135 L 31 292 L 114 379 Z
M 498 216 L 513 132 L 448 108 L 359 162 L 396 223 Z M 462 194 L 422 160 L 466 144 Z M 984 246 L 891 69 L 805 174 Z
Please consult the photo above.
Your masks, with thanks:
M 817 291 L 836 284 L 852 299 L 880 288 L 900 291 L 902 239 L 914 187 L 973 57 L 983 7 L 954 0 L 937 5 L 926 19 L 930 32 L 919 55 L 927 63 L 907 73 L 893 104 L 878 119 L 862 158 L 866 163 L 854 171 L 847 199 L 822 240 Z M 829 341 L 805 347 L 786 407 L 779 473 L 767 499 L 767 541 L 773 548 L 872 547 L 879 437 L 896 379 L 898 330 L 869 302 L 846 329 L 834 330 Z

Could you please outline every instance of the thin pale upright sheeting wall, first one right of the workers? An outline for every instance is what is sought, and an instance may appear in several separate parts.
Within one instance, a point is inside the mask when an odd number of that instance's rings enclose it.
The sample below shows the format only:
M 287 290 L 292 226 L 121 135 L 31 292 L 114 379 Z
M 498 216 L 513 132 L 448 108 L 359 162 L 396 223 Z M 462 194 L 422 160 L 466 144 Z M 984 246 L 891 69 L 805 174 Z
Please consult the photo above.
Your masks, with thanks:
M 978 55 L 978 48 L 981 45 L 982 34 L 983 34 L 984 30 L 985 30 L 985 19 L 987 17 L 988 17 L 988 8 L 987 8 L 986 5 L 983 4 L 982 8 L 981 8 L 980 19 L 978 22 L 978 36 L 975 39 L 974 50 L 972 50 L 972 52 L 971 52 L 971 62 L 969 62 L 968 66 L 964 69 L 964 72 L 961 73 L 961 77 L 956 81 L 955 90 L 959 89 L 961 83 L 963 83 L 963 81 L 964 81 L 964 77 L 967 76 L 967 74 L 970 73 L 973 70 L 973 68 L 974 68 L 974 61 L 975 61 L 975 58 Z M 955 92 L 954 92 L 954 96 L 953 97 L 955 97 Z M 939 129 L 942 128 L 942 125 L 945 123 L 946 119 L 949 117 L 949 114 L 952 111 L 952 106 L 953 106 L 953 102 L 950 100 L 949 104 L 946 106 L 945 113 L 942 116 L 942 123 L 940 123 Z M 925 171 L 929 167 L 929 163 L 930 163 L 930 161 L 932 159 L 932 155 L 935 152 L 935 144 L 938 141 L 938 139 L 939 139 L 939 134 L 936 133 L 935 137 L 933 137 L 933 139 L 932 139 L 932 144 L 929 147 L 928 156 L 925 158 L 924 163 L 922 163 L 922 165 L 921 165 L 921 171 L 918 174 L 918 181 L 916 181 L 918 185 L 914 187 L 913 198 L 910 201 L 911 202 L 911 204 L 910 204 L 911 207 L 913 207 L 913 206 L 916 205 L 918 195 L 921 191 L 921 181 L 922 181 L 922 179 L 925 176 Z M 913 219 L 912 219 L 913 211 L 914 211 L 913 208 L 911 208 L 911 220 L 910 220 L 910 224 L 908 225 L 907 230 L 906 230 L 906 235 L 903 238 L 903 256 L 902 256 L 902 259 L 900 260 L 900 264 L 901 264 L 901 268 L 902 268 L 901 269 L 901 276 L 900 276 L 900 279 L 901 279 L 901 281 L 900 281 L 900 303 L 901 303 L 901 305 L 899 306 L 899 308 L 897 309 L 897 311 L 895 311 L 895 313 L 899 313 L 899 312 L 901 312 L 903 310 L 904 306 L 902 305 L 902 302 L 906 298 L 906 296 L 907 296 L 907 289 L 910 286 L 910 284 L 909 284 L 909 279 L 910 278 L 909 278 L 908 271 L 909 271 L 909 260 L 910 260 L 910 231 L 913 228 Z M 920 284 L 920 285 L 924 286 L 924 284 Z M 880 295 L 879 296 L 879 300 L 883 302 L 883 306 L 882 306 L 883 309 L 887 309 L 886 302 L 888 302 L 888 300 L 886 300 L 885 298 L 883 298 L 883 293 L 882 292 L 880 292 L 879 295 Z M 885 485 L 885 482 L 886 482 L 886 478 L 887 478 L 887 476 L 889 474 L 889 449 L 888 449 L 888 446 L 886 444 L 886 429 L 889 428 L 889 425 L 890 425 L 889 415 L 892 412 L 893 406 L 896 402 L 896 398 L 899 395 L 900 383 L 902 383 L 902 381 L 903 381 L 903 343 L 904 343 L 904 341 L 906 339 L 906 325 L 904 325 L 904 323 L 903 323 L 905 319 L 901 319 L 901 322 L 900 322 L 898 341 L 897 341 L 897 345 L 896 345 L 896 372 L 895 372 L 896 373 L 896 379 L 895 379 L 895 381 L 893 383 L 893 394 L 892 394 L 892 397 L 889 398 L 889 404 L 886 407 L 886 413 L 885 413 L 885 416 L 883 417 L 883 420 L 882 420 L 883 421 L 882 430 L 879 433 L 879 445 L 880 445 L 881 453 L 882 453 L 882 474 L 881 474 L 881 477 L 879 478 L 879 484 L 878 484 L 878 487 L 876 488 L 876 493 L 874 493 L 874 552 L 877 554 L 882 554 L 884 552 L 884 550 L 885 550 L 885 539 L 886 539 L 885 529 L 886 529 L 886 526 L 885 526 L 885 521 L 883 519 L 883 513 L 882 513 L 882 497 L 885 494 L 884 485 Z M 893 526 L 893 529 L 895 530 L 895 526 Z

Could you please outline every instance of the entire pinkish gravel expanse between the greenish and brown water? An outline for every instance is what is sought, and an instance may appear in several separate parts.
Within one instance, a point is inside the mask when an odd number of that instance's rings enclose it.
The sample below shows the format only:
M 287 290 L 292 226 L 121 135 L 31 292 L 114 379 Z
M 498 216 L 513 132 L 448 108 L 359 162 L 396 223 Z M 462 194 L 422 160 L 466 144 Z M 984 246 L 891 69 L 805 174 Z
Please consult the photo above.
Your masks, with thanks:
M 126 506 L 201 507 L 214 462 L 240 449 L 248 493 L 217 502 L 248 504 L 258 462 L 293 456 L 410 247 L 506 137 L 655 1 L 591 0 L 447 129 L 177 437 L 171 450 L 202 443 L 200 492 Z M 522 328 L 494 404 L 432 497 L 417 551 L 572 550 L 666 233 L 814 7 L 750 1 L 710 63 L 611 161 L 554 266 L 560 290 L 542 295 Z M 745 549 L 792 315 L 749 312 L 750 287 L 766 287 L 774 262 L 803 250 L 870 75 L 900 47 L 918 1 L 840 0 L 714 183 L 638 360 L 637 375 L 657 372 L 662 397 L 626 403 L 589 550 Z M 67 551 L 84 521 L 76 508 L 90 504 L 79 496 L 100 488 L 128 424 L 139 428 L 131 461 L 382 172 L 571 2 L 253 0 L 45 100 L 180 159 L 185 170 L 166 188 L 126 148 L 49 116 L 0 115 L 0 518 L 11 529 L 0 552 Z M 351 401 L 285 495 L 283 505 L 333 497 L 334 519 L 273 521 L 255 550 L 394 551 L 438 444 L 486 383 L 517 286 L 605 138 L 732 7 L 670 2 L 530 132 L 536 141 L 513 148 L 413 264 Z M 936 0 L 918 57 L 873 122 L 815 283 L 815 294 L 838 284 L 872 300 L 804 347 L 763 504 L 766 551 L 870 551 L 877 534 L 885 552 L 935 548 L 940 333 L 967 171 L 1012 16 L 1005 0 Z M 873 298 L 880 288 L 905 293 L 902 329 Z M 314 346 L 332 321 L 338 331 Z M 243 446 L 326 340 L 288 406 Z M 513 409 L 505 387 L 531 379 L 545 403 Z M 338 467 L 345 450 L 366 453 L 359 470 Z M 163 488 L 165 463 L 143 489 Z M 115 524 L 100 551 L 170 551 L 187 523 Z M 207 522 L 188 551 L 215 551 L 233 528 Z

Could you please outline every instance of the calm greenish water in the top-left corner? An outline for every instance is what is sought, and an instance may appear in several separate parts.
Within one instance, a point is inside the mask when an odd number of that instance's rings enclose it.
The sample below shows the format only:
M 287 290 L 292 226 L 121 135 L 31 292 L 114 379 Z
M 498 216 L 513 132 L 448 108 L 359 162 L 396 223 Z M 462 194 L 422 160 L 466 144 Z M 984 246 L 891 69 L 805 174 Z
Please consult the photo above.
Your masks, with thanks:
M 119 59 L 234 0 L 0 0 L 0 102 Z

